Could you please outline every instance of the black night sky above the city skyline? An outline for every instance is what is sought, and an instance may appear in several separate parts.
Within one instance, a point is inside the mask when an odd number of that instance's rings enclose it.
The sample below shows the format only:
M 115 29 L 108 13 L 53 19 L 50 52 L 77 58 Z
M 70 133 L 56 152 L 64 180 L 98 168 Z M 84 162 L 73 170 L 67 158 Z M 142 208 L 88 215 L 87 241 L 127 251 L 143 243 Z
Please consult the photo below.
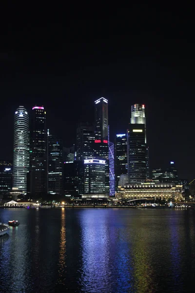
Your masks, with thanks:
M 50 133 L 72 146 L 103 96 L 112 140 L 128 128 L 131 105 L 145 104 L 151 169 L 175 161 L 180 178 L 195 178 L 193 15 L 141 3 L 93 15 L 50 7 L 25 19 L 15 9 L 0 34 L 0 159 L 12 159 L 19 105 L 44 105 Z

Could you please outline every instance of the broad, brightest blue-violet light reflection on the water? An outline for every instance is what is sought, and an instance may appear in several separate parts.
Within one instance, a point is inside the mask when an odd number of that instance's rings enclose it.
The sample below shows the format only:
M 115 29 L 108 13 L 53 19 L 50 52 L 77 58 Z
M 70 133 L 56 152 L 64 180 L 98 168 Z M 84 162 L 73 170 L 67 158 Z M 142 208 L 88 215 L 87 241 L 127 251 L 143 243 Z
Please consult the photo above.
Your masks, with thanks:
M 96 215 L 95 215 L 96 214 Z M 83 209 L 81 217 L 82 287 L 84 292 L 107 290 L 110 292 L 110 235 L 106 213 Z M 92 287 L 92 284 L 93 287 Z M 103 291 L 104 292 L 104 291 Z

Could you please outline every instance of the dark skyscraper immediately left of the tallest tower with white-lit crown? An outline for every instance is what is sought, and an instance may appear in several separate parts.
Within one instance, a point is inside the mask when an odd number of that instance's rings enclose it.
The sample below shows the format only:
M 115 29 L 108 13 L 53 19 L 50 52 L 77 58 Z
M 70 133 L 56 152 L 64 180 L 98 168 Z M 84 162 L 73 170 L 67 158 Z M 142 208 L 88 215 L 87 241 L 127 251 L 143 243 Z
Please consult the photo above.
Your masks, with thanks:
M 77 128 L 77 160 L 94 158 L 94 127 L 80 123 Z

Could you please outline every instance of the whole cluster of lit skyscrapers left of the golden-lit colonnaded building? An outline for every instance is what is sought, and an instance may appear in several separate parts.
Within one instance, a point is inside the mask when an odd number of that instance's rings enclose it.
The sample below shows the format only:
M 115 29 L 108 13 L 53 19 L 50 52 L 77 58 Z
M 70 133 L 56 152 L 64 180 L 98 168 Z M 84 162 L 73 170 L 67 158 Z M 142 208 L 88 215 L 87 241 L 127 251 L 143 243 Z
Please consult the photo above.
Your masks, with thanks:
M 51 193 L 75 197 L 114 196 L 119 180 L 149 178 L 145 106 L 132 105 L 129 127 L 110 141 L 108 100 L 94 103 L 95 123 L 80 123 L 77 143 L 64 147 L 49 133 L 46 111 L 19 106 L 14 117 L 13 189 L 24 194 Z

